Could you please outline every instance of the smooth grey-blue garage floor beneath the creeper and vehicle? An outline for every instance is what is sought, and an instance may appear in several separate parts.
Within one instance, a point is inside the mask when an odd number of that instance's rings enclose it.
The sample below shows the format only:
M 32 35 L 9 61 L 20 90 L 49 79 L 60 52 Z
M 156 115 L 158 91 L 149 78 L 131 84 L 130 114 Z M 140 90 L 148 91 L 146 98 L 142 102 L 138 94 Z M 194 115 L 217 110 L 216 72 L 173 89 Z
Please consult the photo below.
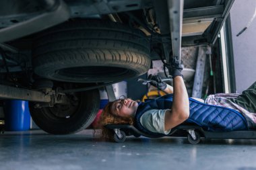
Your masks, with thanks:
M 84 130 L 72 135 L 42 131 L 0 135 L 0 169 L 256 169 L 256 140 L 127 138 L 101 142 Z

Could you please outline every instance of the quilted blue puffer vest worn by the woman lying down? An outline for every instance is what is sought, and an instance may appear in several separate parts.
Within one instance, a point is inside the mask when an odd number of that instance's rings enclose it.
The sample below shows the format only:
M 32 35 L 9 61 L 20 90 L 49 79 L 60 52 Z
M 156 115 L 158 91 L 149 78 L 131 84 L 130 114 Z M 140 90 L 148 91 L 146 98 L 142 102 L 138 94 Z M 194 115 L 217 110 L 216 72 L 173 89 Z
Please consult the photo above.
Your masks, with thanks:
M 164 134 L 150 132 L 146 128 L 143 128 L 139 120 L 142 114 L 148 110 L 170 109 L 172 107 L 172 97 L 173 95 L 164 95 L 156 99 L 150 99 L 144 103 L 139 103 L 135 114 L 135 127 L 146 134 L 166 136 Z M 211 132 L 248 130 L 247 121 L 243 115 L 236 110 L 217 105 L 208 105 L 192 98 L 189 98 L 189 110 L 189 119 L 187 119 L 186 122 L 197 124 L 204 130 Z

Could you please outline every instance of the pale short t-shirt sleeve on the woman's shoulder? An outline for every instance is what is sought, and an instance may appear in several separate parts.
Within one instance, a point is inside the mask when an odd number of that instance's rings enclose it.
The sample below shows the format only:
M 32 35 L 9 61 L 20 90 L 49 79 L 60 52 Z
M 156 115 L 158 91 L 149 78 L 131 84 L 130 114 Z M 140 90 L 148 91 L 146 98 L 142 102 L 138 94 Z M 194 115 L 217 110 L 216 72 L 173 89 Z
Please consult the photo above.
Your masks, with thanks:
M 165 112 L 166 110 L 148 110 L 141 116 L 139 122 L 150 132 L 168 134 L 170 130 L 164 130 Z

